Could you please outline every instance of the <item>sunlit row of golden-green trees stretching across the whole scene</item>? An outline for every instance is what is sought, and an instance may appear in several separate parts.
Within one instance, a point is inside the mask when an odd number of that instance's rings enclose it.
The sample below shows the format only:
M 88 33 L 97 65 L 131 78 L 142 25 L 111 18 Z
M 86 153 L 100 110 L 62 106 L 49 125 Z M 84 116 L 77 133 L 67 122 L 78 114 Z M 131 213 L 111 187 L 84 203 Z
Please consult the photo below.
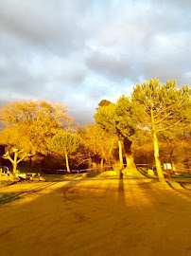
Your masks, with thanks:
M 72 166 L 98 166 L 100 171 L 119 162 L 121 172 L 124 162 L 132 170 L 138 159 L 154 161 L 164 181 L 164 161 L 170 161 L 173 170 L 182 154 L 189 162 L 190 93 L 188 85 L 177 88 L 176 81 L 151 79 L 136 84 L 130 97 L 100 101 L 95 124 L 84 127 L 67 116 L 61 103 L 13 101 L 1 108 L 1 143 L 8 145 L 10 154 L 15 148 L 25 151 L 31 167 L 55 166 L 64 156 L 68 172 L 68 158 Z

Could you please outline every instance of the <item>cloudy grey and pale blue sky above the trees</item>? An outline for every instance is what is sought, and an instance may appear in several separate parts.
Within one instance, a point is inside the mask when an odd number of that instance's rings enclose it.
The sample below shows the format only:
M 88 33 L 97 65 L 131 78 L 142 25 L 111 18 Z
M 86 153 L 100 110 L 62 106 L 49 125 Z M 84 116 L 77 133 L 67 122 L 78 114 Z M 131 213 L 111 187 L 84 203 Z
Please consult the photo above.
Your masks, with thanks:
M 191 0 L 0 0 L 0 104 L 58 101 L 79 125 L 150 78 L 191 81 Z

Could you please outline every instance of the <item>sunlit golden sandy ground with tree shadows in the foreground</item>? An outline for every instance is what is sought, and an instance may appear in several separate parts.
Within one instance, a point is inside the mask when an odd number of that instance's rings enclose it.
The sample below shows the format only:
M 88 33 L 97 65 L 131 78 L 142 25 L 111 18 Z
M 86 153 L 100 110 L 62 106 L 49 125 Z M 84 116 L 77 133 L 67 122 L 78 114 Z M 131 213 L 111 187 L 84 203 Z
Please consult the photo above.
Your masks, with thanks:
M 49 185 L 0 206 L 0 255 L 191 255 L 189 184 L 81 178 Z

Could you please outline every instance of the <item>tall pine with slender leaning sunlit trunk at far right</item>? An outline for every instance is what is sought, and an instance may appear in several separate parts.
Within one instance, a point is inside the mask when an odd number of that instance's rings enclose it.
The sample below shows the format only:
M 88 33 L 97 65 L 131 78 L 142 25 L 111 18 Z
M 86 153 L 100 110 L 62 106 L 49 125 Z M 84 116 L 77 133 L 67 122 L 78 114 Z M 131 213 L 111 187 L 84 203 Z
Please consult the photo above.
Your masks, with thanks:
M 177 89 L 176 82 L 172 80 L 161 84 L 159 80 L 151 79 L 134 87 L 132 102 L 137 109 L 139 127 L 151 131 L 158 178 L 163 182 L 165 178 L 159 157 L 158 134 L 189 123 L 190 89 L 188 85 Z

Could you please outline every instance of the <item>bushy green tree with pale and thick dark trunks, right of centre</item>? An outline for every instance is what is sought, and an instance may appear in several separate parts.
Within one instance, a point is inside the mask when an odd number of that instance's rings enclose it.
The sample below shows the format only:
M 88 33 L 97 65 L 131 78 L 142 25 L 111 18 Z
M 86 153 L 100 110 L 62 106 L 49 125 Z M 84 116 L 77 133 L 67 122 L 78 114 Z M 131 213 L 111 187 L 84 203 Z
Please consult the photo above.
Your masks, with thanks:
M 137 130 L 137 115 L 134 105 L 131 104 L 130 98 L 124 95 L 116 102 L 108 106 L 103 106 L 97 109 L 95 115 L 96 126 L 99 130 L 104 131 L 108 135 L 115 135 L 118 137 L 119 146 L 119 160 L 121 169 L 123 168 L 123 154 L 124 147 L 127 167 L 135 168 L 133 157 L 131 154 L 131 144 L 135 137 Z

